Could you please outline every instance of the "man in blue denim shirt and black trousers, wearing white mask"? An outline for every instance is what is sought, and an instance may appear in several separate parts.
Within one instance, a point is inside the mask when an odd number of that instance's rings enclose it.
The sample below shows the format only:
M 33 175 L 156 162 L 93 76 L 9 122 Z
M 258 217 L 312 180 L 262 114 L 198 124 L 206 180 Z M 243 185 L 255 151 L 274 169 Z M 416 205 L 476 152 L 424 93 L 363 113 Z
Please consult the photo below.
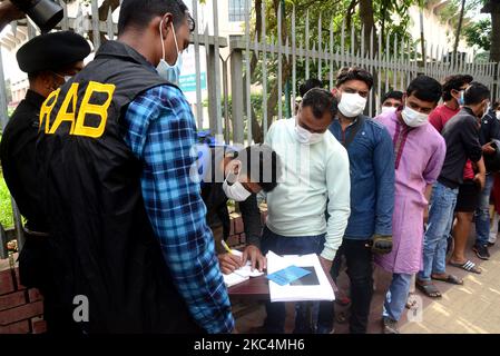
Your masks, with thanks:
M 330 127 L 345 147 L 350 159 L 351 216 L 331 275 L 339 277 L 345 256 L 351 281 L 351 319 L 353 334 L 365 334 L 373 295 L 373 253 L 392 248 L 392 210 L 394 206 L 394 156 L 388 130 L 363 116 L 373 77 L 362 68 L 343 68 L 333 89 L 339 113 Z M 331 333 L 334 304 L 321 304 L 317 332 Z

